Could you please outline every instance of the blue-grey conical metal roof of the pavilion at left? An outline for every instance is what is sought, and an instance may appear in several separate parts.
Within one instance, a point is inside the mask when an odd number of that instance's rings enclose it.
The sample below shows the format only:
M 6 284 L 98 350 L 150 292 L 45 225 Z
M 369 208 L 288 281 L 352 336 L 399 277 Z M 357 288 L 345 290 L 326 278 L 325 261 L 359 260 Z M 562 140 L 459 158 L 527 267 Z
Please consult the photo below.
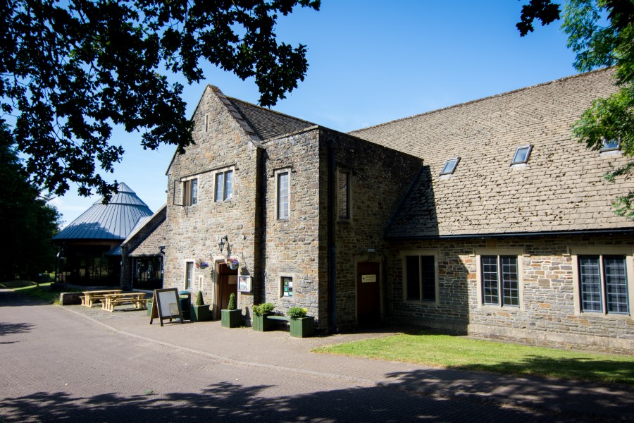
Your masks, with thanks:
M 152 212 L 125 183 L 117 189 L 119 192 L 108 204 L 101 204 L 100 198 L 53 240 L 125 240 L 139 219 Z

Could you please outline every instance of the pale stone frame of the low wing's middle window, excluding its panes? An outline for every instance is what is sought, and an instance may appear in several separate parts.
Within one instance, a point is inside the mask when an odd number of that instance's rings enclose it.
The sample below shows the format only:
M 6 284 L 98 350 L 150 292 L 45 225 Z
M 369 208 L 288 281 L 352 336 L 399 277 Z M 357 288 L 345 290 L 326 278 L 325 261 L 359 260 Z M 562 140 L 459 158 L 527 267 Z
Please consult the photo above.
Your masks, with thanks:
M 484 292 L 483 292 L 483 275 L 482 275 L 482 257 L 483 256 L 496 256 L 499 263 L 499 257 L 514 256 L 517 257 L 517 288 L 518 288 L 518 305 L 504 305 L 504 295 L 502 280 L 497 277 L 497 289 L 498 289 L 498 303 L 485 304 Z M 492 309 L 504 309 L 507 312 L 513 310 L 524 310 L 524 278 L 523 278 L 523 250 L 518 248 L 482 248 L 475 250 L 475 279 L 478 285 L 478 307 L 480 308 L 492 308 Z

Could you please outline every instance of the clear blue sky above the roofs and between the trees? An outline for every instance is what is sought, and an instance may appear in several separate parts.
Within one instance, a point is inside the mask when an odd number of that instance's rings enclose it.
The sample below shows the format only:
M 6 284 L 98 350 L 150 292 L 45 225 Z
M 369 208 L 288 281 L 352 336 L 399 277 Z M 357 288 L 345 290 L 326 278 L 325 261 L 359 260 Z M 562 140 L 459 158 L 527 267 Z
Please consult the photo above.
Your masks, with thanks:
M 560 23 L 520 37 L 528 0 L 322 0 L 321 11 L 297 9 L 280 18 L 278 39 L 308 46 L 309 71 L 274 110 L 347 132 L 576 73 Z M 188 114 L 207 83 L 256 103 L 253 80 L 217 68 L 185 87 Z M 166 202 L 167 167 L 174 147 L 139 147 L 139 134 L 116 129 L 126 153 L 108 180 L 130 185 L 153 212 Z M 52 204 L 70 223 L 99 197 L 71 184 Z

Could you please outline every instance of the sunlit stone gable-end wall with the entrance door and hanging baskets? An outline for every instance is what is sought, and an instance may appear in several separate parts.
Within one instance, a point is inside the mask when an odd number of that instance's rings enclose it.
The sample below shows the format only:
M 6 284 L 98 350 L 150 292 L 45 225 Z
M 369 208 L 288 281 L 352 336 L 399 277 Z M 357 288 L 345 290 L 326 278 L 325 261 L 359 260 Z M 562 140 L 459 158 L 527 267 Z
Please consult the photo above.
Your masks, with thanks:
M 168 171 L 168 240 L 163 286 L 185 286 L 185 262 L 201 259 L 208 269 L 194 267 L 192 298 L 201 290 L 206 304 L 216 312 L 216 264 L 223 262 L 218 240 L 227 235 L 230 253 L 240 259 L 240 274 L 254 276 L 257 290 L 254 243 L 256 233 L 256 183 L 259 147 L 254 137 L 230 111 L 228 101 L 208 86 L 193 116 L 195 145 L 185 154 L 175 154 Z M 214 201 L 214 183 L 219 171 L 233 171 L 233 194 L 230 200 Z M 182 202 L 182 180 L 197 178 L 198 202 Z M 200 283 L 202 281 L 202 283 Z M 251 293 L 238 293 L 238 308 L 253 305 Z M 213 315 L 213 314 L 212 314 Z

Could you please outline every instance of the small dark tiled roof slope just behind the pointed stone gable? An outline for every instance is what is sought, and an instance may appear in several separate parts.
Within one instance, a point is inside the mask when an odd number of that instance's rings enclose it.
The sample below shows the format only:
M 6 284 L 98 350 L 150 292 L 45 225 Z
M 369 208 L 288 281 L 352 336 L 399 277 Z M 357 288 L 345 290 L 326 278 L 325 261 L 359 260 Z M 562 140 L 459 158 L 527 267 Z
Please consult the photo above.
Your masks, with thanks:
M 280 135 L 293 133 L 314 125 L 311 122 L 243 102 L 239 99 L 232 97 L 227 97 L 227 99 L 261 140 L 279 137 Z

